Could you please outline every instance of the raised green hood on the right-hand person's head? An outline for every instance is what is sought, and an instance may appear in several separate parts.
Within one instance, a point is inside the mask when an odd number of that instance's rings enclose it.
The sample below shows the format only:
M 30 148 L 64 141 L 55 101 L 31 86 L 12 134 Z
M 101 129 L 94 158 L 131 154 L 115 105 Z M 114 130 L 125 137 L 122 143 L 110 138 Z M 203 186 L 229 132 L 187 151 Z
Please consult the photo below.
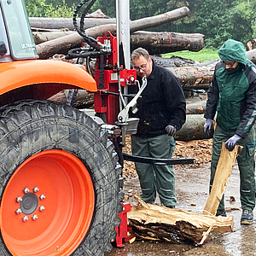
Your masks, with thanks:
M 221 61 L 237 61 L 247 65 L 247 57 L 241 42 L 233 39 L 227 40 L 219 49 L 218 55 Z

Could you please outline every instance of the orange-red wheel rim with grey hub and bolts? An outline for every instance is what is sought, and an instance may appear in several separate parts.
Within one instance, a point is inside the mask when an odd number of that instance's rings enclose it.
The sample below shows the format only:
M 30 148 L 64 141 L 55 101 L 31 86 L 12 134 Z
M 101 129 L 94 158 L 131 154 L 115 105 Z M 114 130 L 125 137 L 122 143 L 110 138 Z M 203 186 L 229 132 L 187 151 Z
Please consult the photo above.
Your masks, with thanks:
M 62 150 L 35 154 L 4 189 L 3 241 L 15 256 L 70 255 L 89 230 L 94 207 L 90 173 L 77 157 Z

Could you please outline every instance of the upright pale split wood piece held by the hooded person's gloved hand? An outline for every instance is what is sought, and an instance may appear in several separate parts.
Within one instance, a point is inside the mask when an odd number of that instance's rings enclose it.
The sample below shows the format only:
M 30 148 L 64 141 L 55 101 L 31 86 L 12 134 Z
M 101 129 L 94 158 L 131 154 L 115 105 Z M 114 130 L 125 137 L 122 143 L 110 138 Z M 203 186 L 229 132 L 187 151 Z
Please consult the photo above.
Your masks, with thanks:
M 241 147 L 237 146 L 233 151 L 225 148 L 225 143 L 222 143 L 220 158 L 212 183 L 211 194 L 207 199 L 207 204 L 203 210 L 203 214 L 215 216 L 219 202 L 224 195 L 224 190 L 227 186 L 232 168 L 235 164 L 236 155 L 241 151 Z

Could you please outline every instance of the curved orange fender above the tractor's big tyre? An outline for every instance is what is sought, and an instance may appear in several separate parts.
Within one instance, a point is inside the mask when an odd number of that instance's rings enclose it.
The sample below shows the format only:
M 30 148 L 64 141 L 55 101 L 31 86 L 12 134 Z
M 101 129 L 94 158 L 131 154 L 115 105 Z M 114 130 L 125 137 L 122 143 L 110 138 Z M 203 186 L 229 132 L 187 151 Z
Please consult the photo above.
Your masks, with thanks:
M 89 73 L 65 61 L 28 60 L 1 63 L 0 81 L 0 95 L 28 84 L 70 84 L 80 89 L 96 91 L 96 81 Z

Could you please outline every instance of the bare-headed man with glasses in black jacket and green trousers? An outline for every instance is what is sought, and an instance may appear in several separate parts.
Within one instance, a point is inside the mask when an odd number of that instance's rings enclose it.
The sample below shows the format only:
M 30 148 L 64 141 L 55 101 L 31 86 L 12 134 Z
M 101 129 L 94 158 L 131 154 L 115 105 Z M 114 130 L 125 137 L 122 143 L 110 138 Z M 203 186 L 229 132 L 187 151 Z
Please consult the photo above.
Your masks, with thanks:
M 137 134 L 131 136 L 132 154 L 154 158 L 171 158 L 175 149 L 174 136 L 186 119 L 186 102 L 178 79 L 166 68 L 159 67 L 143 48 L 135 49 L 131 61 L 137 69 L 137 79 L 147 78 L 142 98 L 137 102 L 139 118 Z M 137 93 L 137 86 L 130 86 Z M 141 198 L 154 204 L 156 192 L 166 207 L 175 207 L 175 177 L 173 166 L 136 163 L 142 189 Z

